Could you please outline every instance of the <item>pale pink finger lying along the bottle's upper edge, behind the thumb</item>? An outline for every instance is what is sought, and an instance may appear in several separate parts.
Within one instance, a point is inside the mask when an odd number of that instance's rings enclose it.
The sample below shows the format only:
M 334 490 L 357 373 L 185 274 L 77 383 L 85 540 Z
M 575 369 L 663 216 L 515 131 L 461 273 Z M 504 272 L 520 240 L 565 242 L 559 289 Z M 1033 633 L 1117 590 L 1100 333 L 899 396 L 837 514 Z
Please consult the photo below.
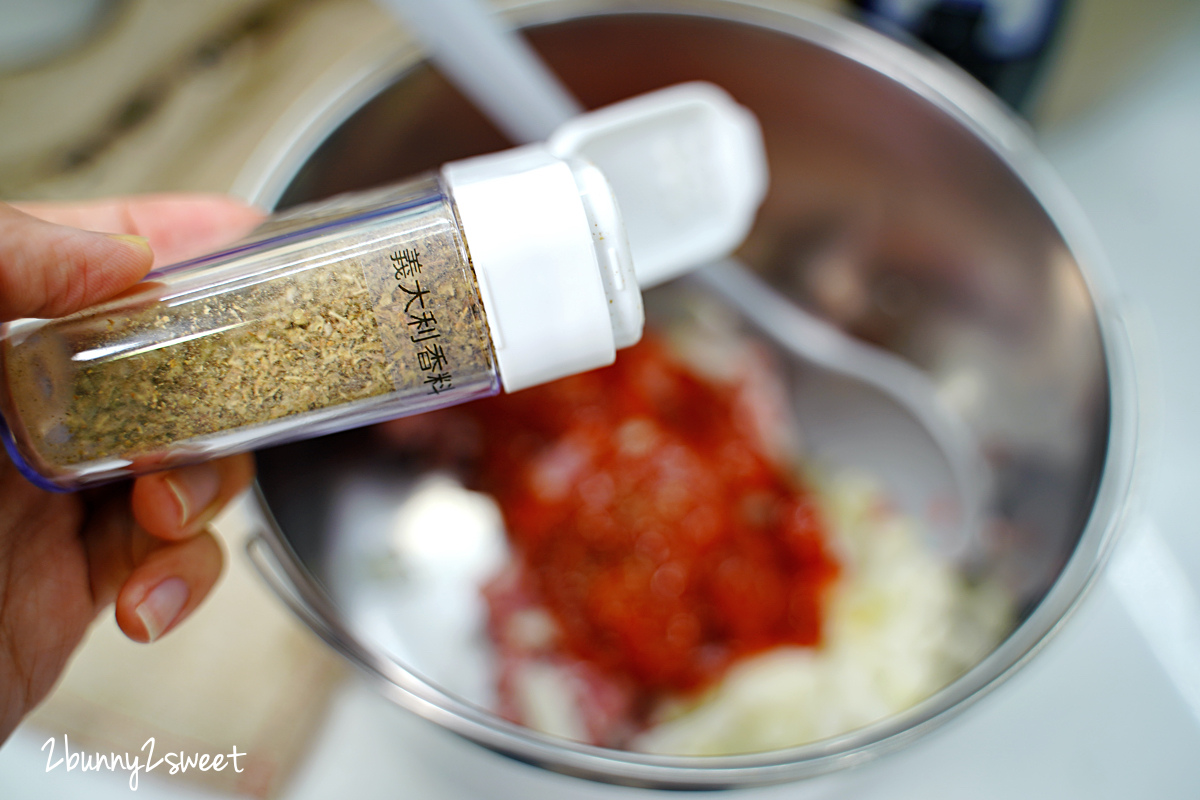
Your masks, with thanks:
M 22 203 L 18 207 L 59 224 L 145 236 L 155 252 L 155 266 L 227 245 L 265 216 L 223 194 L 140 194 L 72 204 Z

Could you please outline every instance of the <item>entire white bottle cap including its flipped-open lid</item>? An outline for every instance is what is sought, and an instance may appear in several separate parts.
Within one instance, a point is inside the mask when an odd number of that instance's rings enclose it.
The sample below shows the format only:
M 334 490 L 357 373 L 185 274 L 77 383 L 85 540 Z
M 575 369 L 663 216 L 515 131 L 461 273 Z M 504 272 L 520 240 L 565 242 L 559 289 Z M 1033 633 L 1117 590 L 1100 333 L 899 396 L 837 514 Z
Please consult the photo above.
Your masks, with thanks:
M 510 392 L 612 363 L 642 336 L 641 288 L 732 253 L 767 191 L 757 121 L 706 83 L 442 174 Z

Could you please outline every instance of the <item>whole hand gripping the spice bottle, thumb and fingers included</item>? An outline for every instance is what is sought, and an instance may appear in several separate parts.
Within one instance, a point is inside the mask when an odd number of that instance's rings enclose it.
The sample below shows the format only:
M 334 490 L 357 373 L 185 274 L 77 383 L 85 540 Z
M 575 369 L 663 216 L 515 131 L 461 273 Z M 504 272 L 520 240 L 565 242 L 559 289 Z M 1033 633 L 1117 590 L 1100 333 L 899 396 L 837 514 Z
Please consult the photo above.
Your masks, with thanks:
M 0 321 L 70 314 L 262 217 L 215 196 L 0 204 Z M 222 561 L 205 527 L 252 475 L 244 455 L 55 494 L 0 449 L 0 741 L 49 693 L 106 606 L 115 602 L 126 636 L 151 642 L 200 603 Z

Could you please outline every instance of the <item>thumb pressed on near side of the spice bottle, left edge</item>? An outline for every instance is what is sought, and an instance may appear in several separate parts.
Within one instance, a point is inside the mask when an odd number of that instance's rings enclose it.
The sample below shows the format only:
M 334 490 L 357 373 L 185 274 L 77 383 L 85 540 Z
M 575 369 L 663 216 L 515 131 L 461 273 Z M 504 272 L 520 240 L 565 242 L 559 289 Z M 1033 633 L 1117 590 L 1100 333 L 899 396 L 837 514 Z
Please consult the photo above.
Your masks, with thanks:
M 151 261 L 142 236 L 68 228 L 0 203 L 0 321 L 79 311 L 136 283 Z

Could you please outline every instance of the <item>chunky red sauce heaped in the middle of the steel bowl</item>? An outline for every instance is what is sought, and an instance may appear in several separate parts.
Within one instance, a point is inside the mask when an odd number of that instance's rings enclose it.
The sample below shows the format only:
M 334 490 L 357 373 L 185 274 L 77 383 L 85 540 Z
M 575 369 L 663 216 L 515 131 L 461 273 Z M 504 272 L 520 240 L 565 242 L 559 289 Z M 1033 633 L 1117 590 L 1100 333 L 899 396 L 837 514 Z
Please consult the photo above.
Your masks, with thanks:
M 733 395 L 647 338 L 611 367 L 473 408 L 480 488 L 562 646 L 643 692 L 821 640 L 838 575 L 821 516 Z

